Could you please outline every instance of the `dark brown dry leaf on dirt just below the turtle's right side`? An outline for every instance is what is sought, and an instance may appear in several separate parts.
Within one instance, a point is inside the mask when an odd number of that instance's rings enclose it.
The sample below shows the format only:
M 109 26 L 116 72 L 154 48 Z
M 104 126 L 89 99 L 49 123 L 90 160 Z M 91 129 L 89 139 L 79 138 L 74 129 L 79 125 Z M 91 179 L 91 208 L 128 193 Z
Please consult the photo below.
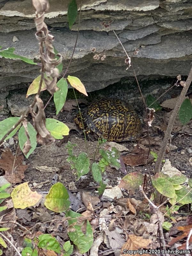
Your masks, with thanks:
M 122 156 L 123 161 L 125 164 L 130 166 L 139 166 L 146 164 L 148 156 L 148 148 L 144 147 L 141 144 L 138 144 L 132 151 L 131 154 L 127 154 L 125 156 Z M 148 163 L 153 162 L 154 157 L 149 154 L 148 156 Z

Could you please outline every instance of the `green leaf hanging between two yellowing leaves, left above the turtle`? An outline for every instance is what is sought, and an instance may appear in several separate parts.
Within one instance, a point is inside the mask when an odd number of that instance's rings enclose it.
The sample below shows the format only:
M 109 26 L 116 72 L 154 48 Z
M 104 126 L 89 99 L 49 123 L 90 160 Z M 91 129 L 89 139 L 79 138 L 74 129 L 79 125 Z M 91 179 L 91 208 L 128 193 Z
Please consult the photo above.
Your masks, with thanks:
M 68 84 L 66 79 L 62 77 L 57 82 L 57 86 L 60 88 L 60 90 L 54 93 L 54 102 L 57 110 L 56 115 L 58 115 L 58 113 L 60 112 L 60 110 L 62 109 L 66 101 L 67 92 L 68 92 Z

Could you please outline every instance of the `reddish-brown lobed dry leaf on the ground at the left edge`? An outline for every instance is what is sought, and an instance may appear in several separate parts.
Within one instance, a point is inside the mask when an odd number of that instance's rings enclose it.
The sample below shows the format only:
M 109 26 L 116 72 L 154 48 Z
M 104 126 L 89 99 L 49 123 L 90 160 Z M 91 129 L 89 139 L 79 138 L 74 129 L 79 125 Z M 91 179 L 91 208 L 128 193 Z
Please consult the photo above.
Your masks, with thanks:
M 5 178 L 11 183 L 20 183 L 25 177 L 24 172 L 28 168 L 28 165 L 23 164 L 23 156 L 12 155 L 10 150 L 6 150 L 2 153 L 0 159 L 0 168 L 5 171 Z M 15 160 L 14 170 L 12 173 L 12 167 Z

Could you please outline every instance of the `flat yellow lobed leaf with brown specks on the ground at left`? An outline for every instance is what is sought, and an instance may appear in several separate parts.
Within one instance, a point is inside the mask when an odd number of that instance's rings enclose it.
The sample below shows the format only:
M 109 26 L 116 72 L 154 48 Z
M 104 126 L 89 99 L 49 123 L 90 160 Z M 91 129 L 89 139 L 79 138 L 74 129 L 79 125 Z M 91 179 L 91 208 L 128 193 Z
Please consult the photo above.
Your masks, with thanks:
M 28 182 L 24 182 L 13 189 L 11 197 L 15 208 L 25 209 L 36 204 L 42 196 L 31 191 Z

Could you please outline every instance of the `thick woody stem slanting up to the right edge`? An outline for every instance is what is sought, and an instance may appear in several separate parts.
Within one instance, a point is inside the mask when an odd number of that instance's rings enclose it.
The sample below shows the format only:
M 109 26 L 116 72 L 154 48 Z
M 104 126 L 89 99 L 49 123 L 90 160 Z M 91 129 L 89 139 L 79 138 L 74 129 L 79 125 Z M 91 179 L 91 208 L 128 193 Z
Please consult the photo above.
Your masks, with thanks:
M 155 165 L 155 172 L 156 173 L 161 171 L 161 163 L 162 163 L 162 160 L 164 158 L 165 150 L 167 148 L 167 143 L 169 142 L 169 139 L 170 139 L 170 136 L 171 136 L 173 124 L 174 124 L 175 118 L 177 116 L 177 113 L 180 109 L 180 106 L 181 106 L 183 100 L 185 99 L 185 95 L 188 91 L 188 88 L 191 84 L 191 81 L 192 81 L 192 67 L 191 67 L 191 70 L 189 72 L 188 78 L 187 78 L 186 82 L 184 83 L 184 86 L 183 86 L 183 89 L 180 93 L 179 99 L 177 100 L 177 102 L 175 104 L 175 107 L 172 110 L 172 114 L 171 114 L 171 117 L 169 119 L 167 130 L 165 132 L 164 140 L 162 142 L 162 146 L 161 146 L 161 148 L 159 150 L 159 153 L 158 153 L 158 156 L 157 156 L 157 161 L 156 161 L 156 165 Z

